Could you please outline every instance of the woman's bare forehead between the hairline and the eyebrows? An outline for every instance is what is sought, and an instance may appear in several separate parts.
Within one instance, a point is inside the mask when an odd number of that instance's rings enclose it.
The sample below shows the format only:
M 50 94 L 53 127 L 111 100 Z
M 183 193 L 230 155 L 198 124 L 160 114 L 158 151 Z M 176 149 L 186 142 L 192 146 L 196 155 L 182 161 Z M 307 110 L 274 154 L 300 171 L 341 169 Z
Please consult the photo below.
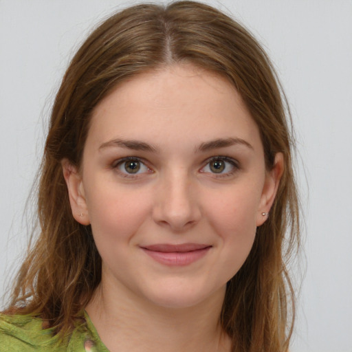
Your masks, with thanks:
M 118 85 L 94 109 L 88 139 L 197 143 L 225 135 L 260 143 L 258 127 L 234 86 L 217 74 L 184 64 Z

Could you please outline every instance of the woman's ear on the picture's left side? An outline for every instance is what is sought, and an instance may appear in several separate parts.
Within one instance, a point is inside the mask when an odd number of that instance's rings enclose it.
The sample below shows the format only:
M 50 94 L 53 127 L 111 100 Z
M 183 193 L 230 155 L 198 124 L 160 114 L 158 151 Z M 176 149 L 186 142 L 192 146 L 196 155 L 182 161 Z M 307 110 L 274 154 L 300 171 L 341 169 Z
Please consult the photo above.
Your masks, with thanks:
M 72 215 L 78 223 L 89 225 L 89 214 L 82 177 L 76 166 L 72 165 L 68 159 L 63 159 L 61 166 L 63 167 L 63 177 L 65 178 L 69 192 L 69 203 L 71 205 Z

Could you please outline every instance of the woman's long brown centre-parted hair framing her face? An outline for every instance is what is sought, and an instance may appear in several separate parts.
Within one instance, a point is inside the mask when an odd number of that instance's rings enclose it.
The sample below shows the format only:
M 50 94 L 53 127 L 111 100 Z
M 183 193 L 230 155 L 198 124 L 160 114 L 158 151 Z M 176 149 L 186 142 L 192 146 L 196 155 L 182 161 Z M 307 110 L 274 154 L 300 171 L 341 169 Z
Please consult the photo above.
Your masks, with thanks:
M 269 58 L 239 23 L 209 5 L 142 4 L 113 14 L 92 32 L 58 90 L 41 164 L 40 233 L 14 286 L 8 314 L 32 314 L 69 333 L 100 283 L 101 258 L 90 225 L 74 220 L 61 161 L 80 167 L 91 114 L 117 85 L 138 74 L 191 63 L 227 78 L 259 126 L 267 169 L 283 153 L 270 217 L 228 282 L 221 325 L 232 351 L 287 351 L 294 289 L 287 264 L 299 248 L 299 208 L 287 100 Z

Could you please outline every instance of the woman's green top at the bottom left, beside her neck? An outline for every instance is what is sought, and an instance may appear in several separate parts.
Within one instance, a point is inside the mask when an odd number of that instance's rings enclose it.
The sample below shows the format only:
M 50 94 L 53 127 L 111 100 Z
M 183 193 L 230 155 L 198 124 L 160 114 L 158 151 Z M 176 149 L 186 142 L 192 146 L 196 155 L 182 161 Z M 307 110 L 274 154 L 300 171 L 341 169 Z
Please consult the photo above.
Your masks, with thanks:
M 53 329 L 43 329 L 43 320 L 32 316 L 0 314 L 1 352 L 109 352 L 100 340 L 96 328 L 85 312 L 65 342 L 58 344 Z

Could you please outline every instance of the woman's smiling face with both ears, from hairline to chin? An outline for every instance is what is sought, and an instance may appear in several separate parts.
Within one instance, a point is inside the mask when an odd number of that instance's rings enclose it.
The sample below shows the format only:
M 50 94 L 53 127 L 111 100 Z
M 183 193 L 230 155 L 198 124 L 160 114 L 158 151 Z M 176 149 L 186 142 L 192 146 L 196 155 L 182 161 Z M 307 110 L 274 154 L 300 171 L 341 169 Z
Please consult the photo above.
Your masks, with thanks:
M 164 307 L 223 297 L 270 210 L 281 164 L 266 170 L 234 87 L 191 65 L 117 87 L 94 110 L 80 172 L 63 162 L 102 282 Z

